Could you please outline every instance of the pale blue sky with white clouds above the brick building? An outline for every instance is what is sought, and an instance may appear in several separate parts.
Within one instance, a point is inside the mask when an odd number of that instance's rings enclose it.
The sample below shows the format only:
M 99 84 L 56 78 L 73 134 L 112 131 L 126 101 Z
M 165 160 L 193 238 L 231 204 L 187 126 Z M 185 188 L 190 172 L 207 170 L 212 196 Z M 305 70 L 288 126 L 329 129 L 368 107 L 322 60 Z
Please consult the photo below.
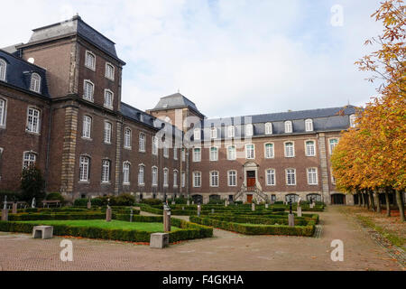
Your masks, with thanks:
M 377 50 L 380 1 L 0 0 L 0 47 L 78 13 L 116 43 L 122 101 L 143 110 L 178 91 L 207 117 L 364 106 L 376 85 L 354 62 Z

